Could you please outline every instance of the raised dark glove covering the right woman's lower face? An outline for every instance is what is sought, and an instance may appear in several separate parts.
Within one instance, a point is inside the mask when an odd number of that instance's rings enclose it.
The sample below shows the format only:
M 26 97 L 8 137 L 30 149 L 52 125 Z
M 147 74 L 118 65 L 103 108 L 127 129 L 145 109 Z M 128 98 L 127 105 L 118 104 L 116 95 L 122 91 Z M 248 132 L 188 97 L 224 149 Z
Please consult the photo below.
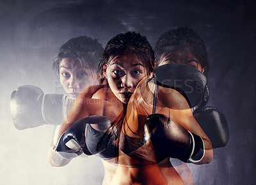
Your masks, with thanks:
M 209 100 L 207 79 L 203 73 L 191 66 L 181 64 L 165 64 L 155 71 L 158 85 L 179 91 L 186 98 L 189 107 L 206 105 Z

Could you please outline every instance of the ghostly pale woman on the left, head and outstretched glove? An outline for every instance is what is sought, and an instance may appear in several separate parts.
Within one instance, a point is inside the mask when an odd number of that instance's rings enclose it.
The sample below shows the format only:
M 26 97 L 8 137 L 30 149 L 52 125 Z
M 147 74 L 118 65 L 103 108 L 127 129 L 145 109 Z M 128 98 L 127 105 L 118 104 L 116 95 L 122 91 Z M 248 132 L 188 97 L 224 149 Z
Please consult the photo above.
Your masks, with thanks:
M 13 91 L 10 101 L 15 127 L 26 129 L 43 124 L 61 124 L 78 94 L 95 84 L 102 52 L 100 43 L 87 36 L 72 38 L 62 45 L 53 67 L 58 71 L 67 94 L 44 94 L 39 87 L 22 85 Z

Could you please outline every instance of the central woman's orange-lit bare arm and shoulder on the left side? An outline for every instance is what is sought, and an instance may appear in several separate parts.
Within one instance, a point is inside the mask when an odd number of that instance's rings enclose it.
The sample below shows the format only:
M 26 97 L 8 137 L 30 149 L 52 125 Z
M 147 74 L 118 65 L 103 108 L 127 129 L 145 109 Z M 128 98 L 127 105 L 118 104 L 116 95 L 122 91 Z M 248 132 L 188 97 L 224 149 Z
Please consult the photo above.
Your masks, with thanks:
M 105 94 L 107 92 L 108 100 L 105 101 Z M 93 98 L 91 96 L 93 96 Z M 65 119 L 63 124 L 61 124 L 61 127 L 57 131 L 56 137 L 52 141 L 52 144 L 49 148 L 48 159 L 52 166 L 64 166 L 67 165 L 70 161 L 70 159 L 61 158 L 61 156 L 56 154 L 56 151 L 53 149 L 54 144 L 56 144 L 61 135 L 67 131 L 67 129 L 70 128 L 74 122 L 77 122 L 85 117 L 89 117 L 90 115 L 102 115 L 104 106 L 106 106 L 105 116 L 108 117 L 111 122 L 114 121 L 116 117 L 122 113 L 123 110 L 122 102 L 119 101 L 111 91 L 109 92 L 108 88 L 99 89 L 95 86 L 92 86 L 84 89 L 84 91 L 79 94 L 76 101 L 72 105 L 67 119 Z

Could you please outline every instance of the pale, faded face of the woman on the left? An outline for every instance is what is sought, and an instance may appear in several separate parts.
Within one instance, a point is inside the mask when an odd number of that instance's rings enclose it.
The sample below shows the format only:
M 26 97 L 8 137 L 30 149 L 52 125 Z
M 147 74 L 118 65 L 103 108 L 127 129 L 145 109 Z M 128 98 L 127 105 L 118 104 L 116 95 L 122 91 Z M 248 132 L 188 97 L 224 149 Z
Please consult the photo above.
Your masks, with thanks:
M 95 71 L 71 59 L 63 59 L 59 65 L 60 82 L 70 98 L 75 99 L 86 87 L 93 85 Z

